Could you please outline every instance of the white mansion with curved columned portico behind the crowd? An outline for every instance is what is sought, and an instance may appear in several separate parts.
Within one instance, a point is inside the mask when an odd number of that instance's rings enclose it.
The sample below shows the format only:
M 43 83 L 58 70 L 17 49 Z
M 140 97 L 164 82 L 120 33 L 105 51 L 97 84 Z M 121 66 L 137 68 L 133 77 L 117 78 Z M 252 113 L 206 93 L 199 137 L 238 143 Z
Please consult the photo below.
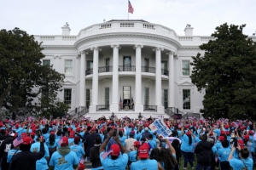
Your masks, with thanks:
M 43 64 L 66 76 L 58 97 L 71 114 L 136 118 L 203 108 L 205 92 L 191 83 L 189 62 L 212 37 L 193 36 L 189 25 L 178 36 L 145 20 L 109 20 L 74 36 L 70 31 L 66 25 L 60 36 L 35 39 L 43 42 Z

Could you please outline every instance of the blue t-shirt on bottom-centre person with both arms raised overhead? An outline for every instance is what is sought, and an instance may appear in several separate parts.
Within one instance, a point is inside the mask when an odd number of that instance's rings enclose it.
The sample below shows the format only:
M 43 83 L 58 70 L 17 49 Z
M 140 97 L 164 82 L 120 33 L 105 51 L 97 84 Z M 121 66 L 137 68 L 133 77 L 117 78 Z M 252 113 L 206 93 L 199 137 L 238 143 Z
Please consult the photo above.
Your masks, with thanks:
M 107 156 L 104 160 L 102 158 L 102 154 L 104 154 L 105 152 L 102 151 L 102 153 L 100 154 L 100 159 L 102 162 L 102 166 L 104 167 L 104 169 L 108 170 L 125 170 L 125 167 L 127 165 L 128 162 L 128 155 L 127 154 L 123 154 L 123 155 L 119 155 L 119 157 L 116 160 L 112 160 L 109 156 Z

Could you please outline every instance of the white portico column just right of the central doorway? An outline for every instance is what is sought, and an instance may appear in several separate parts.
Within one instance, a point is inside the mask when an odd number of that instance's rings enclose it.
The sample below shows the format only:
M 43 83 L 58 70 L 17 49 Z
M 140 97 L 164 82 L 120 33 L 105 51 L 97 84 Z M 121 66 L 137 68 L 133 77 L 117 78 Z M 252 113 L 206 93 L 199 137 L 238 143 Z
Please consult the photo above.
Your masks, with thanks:
M 143 111 L 142 104 L 142 48 L 143 45 L 135 45 L 136 48 L 136 78 L 135 78 L 135 111 Z

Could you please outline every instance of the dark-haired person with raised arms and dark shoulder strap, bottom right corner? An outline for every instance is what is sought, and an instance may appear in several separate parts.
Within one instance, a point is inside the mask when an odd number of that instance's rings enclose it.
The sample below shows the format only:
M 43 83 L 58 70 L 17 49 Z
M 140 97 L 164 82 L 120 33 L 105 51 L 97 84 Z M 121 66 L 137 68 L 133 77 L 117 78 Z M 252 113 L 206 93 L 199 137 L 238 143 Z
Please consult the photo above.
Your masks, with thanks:
M 237 149 L 240 150 L 240 159 L 233 157 L 233 153 L 236 150 L 233 145 L 229 156 L 230 166 L 233 167 L 234 170 L 253 170 L 253 159 L 249 158 L 249 150 L 246 147 L 243 148 L 243 146 L 240 146 L 239 144 L 237 145 Z

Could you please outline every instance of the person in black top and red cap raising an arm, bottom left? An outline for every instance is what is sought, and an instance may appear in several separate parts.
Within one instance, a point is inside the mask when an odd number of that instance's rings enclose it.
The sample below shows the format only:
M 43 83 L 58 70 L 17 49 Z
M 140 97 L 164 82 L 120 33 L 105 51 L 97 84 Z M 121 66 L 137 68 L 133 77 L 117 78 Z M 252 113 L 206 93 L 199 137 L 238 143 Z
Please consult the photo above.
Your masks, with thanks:
M 9 169 L 15 170 L 24 170 L 31 169 L 36 170 L 36 161 L 40 160 L 44 157 L 44 142 L 43 139 L 40 138 L 40 150 L 39 152 L 31 152 L 30 148 L 32 145 L 32 139 L 29 137 L 25 137 L 22 139 L 22 144 L 20 144 L 21 152 L 17 153 L 13 161 L 9 165 Z

